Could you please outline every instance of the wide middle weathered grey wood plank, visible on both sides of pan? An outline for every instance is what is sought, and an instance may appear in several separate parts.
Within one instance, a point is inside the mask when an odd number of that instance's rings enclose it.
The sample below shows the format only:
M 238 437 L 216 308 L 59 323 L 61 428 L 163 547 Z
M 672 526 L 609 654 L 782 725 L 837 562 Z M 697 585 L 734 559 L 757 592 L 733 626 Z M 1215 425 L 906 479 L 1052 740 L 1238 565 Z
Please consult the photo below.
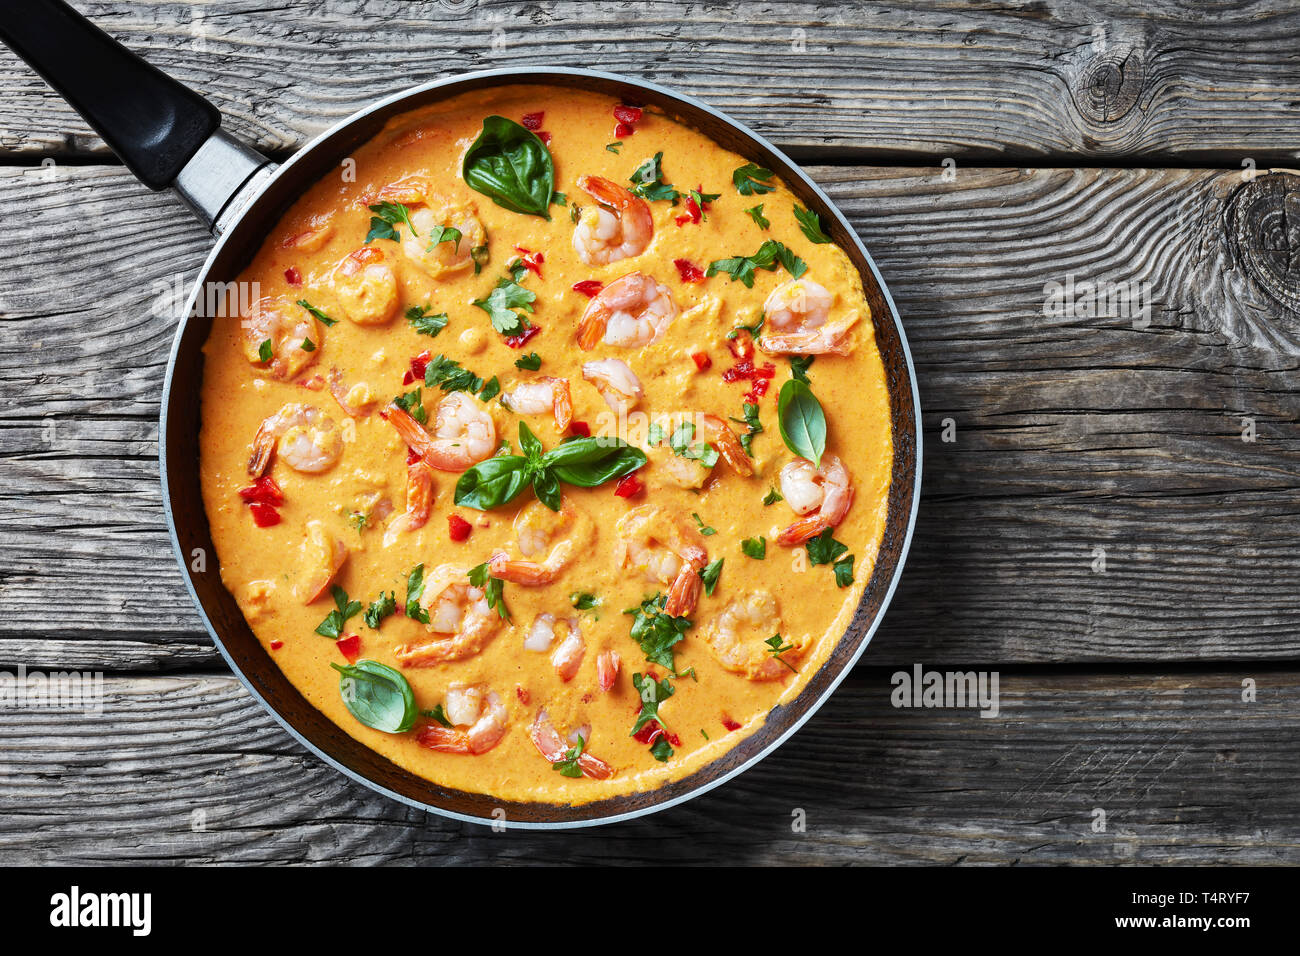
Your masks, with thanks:
M 892 287 L 926 410 L 913 555 L 867 663 L 1300 653 L 1300 319 L 1275 251 L 1297 177 L 811 172 Z M 216 662 L 155 458 L 202 229 L 116 168 L 0 169 L 0 662 Z M 1045 316 L 1071 274 L 1149 284 L 1149 324 Z

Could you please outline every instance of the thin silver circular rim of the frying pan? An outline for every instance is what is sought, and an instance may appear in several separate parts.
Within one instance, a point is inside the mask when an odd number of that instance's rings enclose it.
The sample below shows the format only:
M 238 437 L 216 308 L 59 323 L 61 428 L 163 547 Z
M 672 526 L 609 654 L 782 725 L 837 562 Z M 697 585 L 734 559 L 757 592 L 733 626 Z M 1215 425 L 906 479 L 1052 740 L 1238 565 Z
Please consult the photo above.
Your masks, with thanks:
M 281 178 L 286 176 L 290 176 L 291 170 L 294 170 L 300 161 L 306 160 L 306 157 L 311 155 L 321 143 L 330 139 L 337 133 L 347 129 L 348 126 L 352 126 L 354 124 L 364 120 L 365 117 L 376 112 L 385 111 L 389 107 L 393 107 L 404 100 L 419 98 L 424 94 L 428 94 L 433 90 L 439 90 L 442 87 L 455 86 L 462 83 L 472 83 L 474 81 L 491 79 L 491 78 L 514 77 L 517 78 L 520 82 L 532 81 L 536 82 L 537 85 L 545 85 L 546 75 L 571 75 L 571 77 L 576 75 L 576 77 L 589 77 L 594 79 L 606 79 L 618 83 L 625 83 L 632 87 L 655 92 L 660 96 L 664 96 L 666 99 L 684 103 L 693 109 L 708 113 L 716 117 L 718 120 L 723 121 L 724 124 L 732 126 L 733 129 L 738 130 L 742 135 L 750 138 L 762 147 L 770 150 L 774 155 L 783 159 L 788 164 L 789 169 L 792 169 L 800 177 L 802 183 L 809 189 L 811 189 L 818 195 L 818 198 L 822 199 L 822 202 L 826 204 L 826 208 L 831 209 L 835 213 L 835 216 L 840 220 L 841 226 L 844 226 L 845 233 L 853 239 L 863 260 L 866 261 L 868 269 L 871 271 L 872 278 L 875 280 L 876 286 L 880 290 L 880 294 L 884 297 L 884 300 L 889 308 L 890 313 L 889 317 L 898 336 L 898 345 L 902 351 L 902 358 L 907 369 L 907 381 L 911 386 L 911 403 L 913 403 L 913 416 L 914 416 L 913 420 L 915 425 L 913 436 L 915 447 L 915 462 L 913 464 L 913 481 L 911 481 L 913 486 L 911 486 L 911 501 L 910 501 L 911 507 L 909 510 L 906 528 L 904 531 L 902 541 L 900 545 L 898 559 L 890 574 L 888 587 L 885 588 L 881 596 L 880 606 L 876 610 L 875 615 L 872 615 L 871 622 L 864 628 L 864 633 L 862 635 L 862 639 L 857 649 L 853 652 L 853 654 L 840 667 L 837 674 L 831 675 L 829 683 L 823 691 L 823 693 L 814 701 L 811 701 L 809 706 L 803 710 L 803 713 L 798 714 L 788 727 L 785 727 L 779 735 L 776 735 L 771 741 L 768 741 L 766 747 L 757 750 L 750 757 L 737 763 L 736 766 L 731 767 L 725 773 L 722 773 L 716 778 L 706 780 L 693 787 L 692 790 L 684 793 L 679 793 L 673 797 L 656 801 L 654 800 L 654 791 L 647 791 L 646 795 L 651 803 L 647 803 L 644 806 L 638 806 L 636 809 L 627 810 L 623 813 L 611 813 L 585 819 L 515 821 L 510 818 L 498 819 L 493 817 L 478 817 L 473 814 L 460 813 L 458 810 L 451 810 L 432 803 L 425 803 L 422 800 L 408 797 L 403 793 L 398 793 L 390 790 L 389 787 L 385 787 L 377 780 L 373 780 L 369 777 L 343 765 L 341 761 L 334 758 L 326 750 L 324 750 L 321 747 L 308 740 L 304 734 L 302 734 L 292 723 L 290 723 L 289 718 L 281 714 L 277 708 L 272 706 L 272 704 L 257 691 L 257 688 L 254 685 L 250 678 L 243 672 L 243 670 L 235 662 L 231 653 L 226 649 L 225 641 L 217 633 L 217 630 L 212 623 L 212 618 L 208 615 L 208 611 L 204 607 L 203 601 L 200 600 L 192 580 L 190 579 L 190 574 L 186 570 L 187 568 L 186 554 L 182 549 L 179 535 L 177 532 L 176 516 L 173 514 L 173 507 L 172 507 L 172 489 L 168 481 L 168 444 L 169 444 L 168 414 L 172 402 L 174 371 L 177 364 L 177 356 L 181 350 L 181 341 L 183 338 L 186 326 L 188 325 L 192 317 L 194 308 L 198 297 L 202 294 L 204 282 L 207 281 L 207 277 L 212 269 L 213 263 L 217 260 L 218 255 L 225 250 L 226 243 L 237 233 L 235 226 L 248 216 L 248 213 L 259 204 L 259 202 L 263 200 L 263 198 L 266 195 L 266 191 L 270 189 L 273 183 L 278 182 Z M 762 137 L 760 134 L 755 133 L 745 124 L 733 120 L 731 116 L 720 112 L 719 109 L 708 105 L 707 103 L 703 103 L 702 100 L 698 100 L 694 96 L 689 96 L 676 90 L 659 86 L 658 83 L 653 83 L 640 77 L 629 77 L 619 73 L 589 70 L 572 66 L 542 66 L 542 68 L 508 66 L 491 70 L 458 73 L 454 75 L 443 77 L 441 79 L 434 79 L 426 83 L 420 83 L 417 86 L 412 86 L 389 94 L 387 96 L 384 96 L 376 100 L 374 103 L 363 107 L 361 109 L 351 113 L 350 116 L 344 117 L 343 120 L 339 120 L 338 122 L 329 126 L 324 131 L 312 137 L 312 139 L 304 143 L 292 156 L 290 156 L 283 164 L 276 168 L 269 177 L 266 177 L 263 182 L 260 182 L 256 191 L 252 195 L 247 198 L 238 198 L 237 202 L 239 202 L 240 206 L 234 220 L 230 224 L 230 228 L 226 229 L 217 238 L 217 242 L 213 245 L 202 268 L 199 269 L 199 273 L 194 282 L 194 287 L 191 289 L 190 295 L 186 300 L 185 311 L 182 312 L 178 320 L 177 329 L 172 339 L 172 349 L 169 350 L 168 355 L 166 372 L 162 381 L 161 410 L 159 415 L 159 472 L 162 486 L 162 510 L 164 514 L 166 515 L 168 536 L 172 541 L 172 551 L 181 568 L 181 578 L 185 581 L 185 588 L 190 594 L 190 600 L 195 610 L 198 610 L 199 617 L 203 620 L 204 628 L 208 631 L 208 635 L 212 637 L 212 641 L 216 645 L 217 650 L 221 653 L 222 658 L 225 658 L 226 665 L 239 679 L 239 683 L 242 683 L 243 687 L 252 695 L 252 697 L 261 705 L 263 710 L 269 713 L 276 719 L 276 722 L 280 723 L 280 726 L 282 726 L 286 731 L 289 731 L 290 736 L 292 736 L 294 740 L 306 747 L 311 753 L 322 760 L 328 766 L 346 775 L 348 779 L 352 779 L 360 783 L 361 786 L 367 787 L 368 790 L 381 793 L 391 800 L 396 800 L 398 803 L 411 806 L 413 809 L 424 810 L 426 813 L 434 813 L 437 816 L 446 817 L 448 819 L 456 819 L 465 823 L 506 827 L 510 830 L 577 830 L 584 827 L 606 826 L 610 823 L 636 819 L 638 817 L 645 817 L 651 813 L 658 813 L 660 810 L 667 810 L 671 806 L 676 806 L 688 800 L 693 800 L 716 787 L 720 787 L 722 784 L 738 777 L 744 771 L 749 770 L 750 767 L 763 761 L 767 756 L 770 756 L 772 752 L 780 748 L 786 740 L 789 740 L 789 737 L 792 737 L 812 717 L 812 714 L 815 714 L 826 705 L 826 702 L 831 698 L 835 691 L 838 689 L 840 684 L 845 680 L 845 678 L 849 676 L 849 674 L 857 665 L 858 659 L 862 657 L 867 646 L 871 644 L 871 640 L 875 637 L 876 630 L 880 627 L 881 620 L 884 620 L 885 613 L 889 610 L 889 605 L 893 601 L 894 592 L 898 588 L 898 581 L 902 578 L 902 571 L 907 563 L 907 555 L 911 549 L 911 538 L 916 527 L 916 514 L 920 507 L 920 485 L 922 485 L 922 463 L 923 463 L 920 389 L 916 382 L 916 369 L 913 363 L 911 347 L 907 342 L 907 334 L 906 330 L 904 329 L 902 316 L 898 312 L 898 307 L 893 300 L 893 295 L 889 291 L 889 286 L 885 284 L 884 277 L 880 274 L 880 269 L 876 267 L 875 259 L 871 256 L 871 252 L 863 245 L 862 238 L 858 235 L 857 230 L 849 222 L 848 217 L 840 211 L 838 206 L 833 203 L 831 198 L 827 196 L 827 194 L 822 190 L 822 187 L 807 173 L 803 172 L 802 166 L 794 163 L 789 156 L 786 156 L 783 150 L 768 142 L 766 137 Z M 863 592 L 863 600 L 866 600 L 866 592 Z M 841 635 L 840 640 L 844 640 L 844 636 L 846 635 L 848 631 L 845 631 L 845 635 Z

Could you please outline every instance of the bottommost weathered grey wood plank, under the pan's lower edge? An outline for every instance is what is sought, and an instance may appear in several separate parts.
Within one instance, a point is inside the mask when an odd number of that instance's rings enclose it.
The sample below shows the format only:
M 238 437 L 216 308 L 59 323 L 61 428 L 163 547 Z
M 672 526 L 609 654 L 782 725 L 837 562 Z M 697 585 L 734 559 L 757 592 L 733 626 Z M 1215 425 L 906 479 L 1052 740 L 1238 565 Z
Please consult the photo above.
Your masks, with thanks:
M 890 691 L 859 671 L 682 806 L 528 834 L 372 795 L 231 678 L 109 679 L 101 717 L 5 710 L 0 862 L 1300 862 L 1300 672 L 1002 674 L 994 719 Z

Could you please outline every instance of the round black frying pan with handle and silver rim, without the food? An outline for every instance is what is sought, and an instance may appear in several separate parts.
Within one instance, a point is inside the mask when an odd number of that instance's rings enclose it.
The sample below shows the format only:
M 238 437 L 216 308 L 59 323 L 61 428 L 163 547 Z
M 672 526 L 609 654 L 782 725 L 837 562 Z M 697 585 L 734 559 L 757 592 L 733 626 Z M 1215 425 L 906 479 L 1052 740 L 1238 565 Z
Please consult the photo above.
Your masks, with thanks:
M 263 706 L 326 763 L 380 793 L 455 819 L 523 829 L 610 823 L 689 800 L 753 766 L 812 715 L 861 657 L 893 596 L 911 541 L 920 493 L 920 398 L 902 323 L 875 263 L 826 194 L 775 146 L 716 109 L 653 83 L 594 70 L 516 68 L 448 77 L 381 99 L 277 166 L 224 133 L 212 104 L 138 59 L 62 0 L 3 4 L 0 39 L 81 112 L 140 181 L 155 190 L 176 190 L 217 237 L 199 271 L 168 362 L 159 441 L 168 528 L 190 596 L 230 667 Z M 471 90 L 514 83 L 595 90 L 640 103 L 774 169 L 803 206 L 829 225 L 831 237 L 862 273 L 892 414 L 894 460 L 880 553 L 844 639 L 803 692 L 775 708 L 760 730 L 692 775 L 654 791 L 578 806 L 512 803 L 442 787 L 358 743 L 283 676 L 222 585 L 216 561 L 204 564 L 191 559 L 216 554 L 199 493 L 202 350 L 213 321 L 204 315 L 209 310 L 202 308 L 204 289 L 233 281 L 289 206 L 337 170 L 390 117 Z

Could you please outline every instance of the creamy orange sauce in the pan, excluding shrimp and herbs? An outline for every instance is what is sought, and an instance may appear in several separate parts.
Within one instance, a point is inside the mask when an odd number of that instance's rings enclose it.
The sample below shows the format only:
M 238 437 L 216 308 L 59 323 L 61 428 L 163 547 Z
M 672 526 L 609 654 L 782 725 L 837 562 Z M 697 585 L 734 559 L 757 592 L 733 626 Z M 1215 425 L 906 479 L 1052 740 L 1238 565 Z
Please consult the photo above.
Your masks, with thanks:
M 774 179 L 776 189 L 766 195 L 741 195 L 732 185 L 732 172 L 748 163 L 748 157 L 720 148 L 699 133 L 646 112 L 633 135 L 615 140 L 614 105 L 607 98 L 578 91 L 507 87 L 459 96 L 394 120 L 352 157 L 355 179 L 347 174 L 351 164 L 344 164 L 338 176 L 316 183 L 289 211 L 240 276 L 244 282 L 256 282 L 261 297 L 286 297 L 289 303 L 306 299 L 335 319 L 328 328 L 316 323 L 308 333 L 315 350 L 290 355 L 287 364 L 280 356 L 264 363 L 256 349 L 250 355 L 250 334 L 235 320 L 217 320 L 205 346 L 204 503 L 222 580 L 254 632 L 294 685 L 358 740 L 429 780 L 504 800 L 578 804 L 651 790 L 724 754 L 762 726 L 774 705 L 793 698 L 840 640 L 871 576 L 885 519 L 892 463 L 889 401 L 861 277 L 848 255 L 833 243 L 812 243 L 803 235 L 793 215 L 797 200 L 779 181 Z M 542 130 L 551 137 L 555 190 L 564 193 L 569 204 L 582 207 L 585 215 L 592 215 L 593 200 L 578 187 L 580 176 L 599 176 L 628 186 L 629 176 L 641 163 L 660 151 L 667 182 L 681 191 L 702 186 L 705 193 L 720 195 L 710 203 L 701 222 L 684 225 L 676 222 L 685 212 L 681 203 L 649 203 L 654 220 L 649 247 L 606 265 L 588 265 L 575 251 L 575 224 L 568 207 L 552 206 L 549 221 L 520 215 L 476 193 L 460 178 L 462 157 L 486 116 L 497 113 L 519 121 L 536 112 L 545 114 Z M 610 151 L 606 144 L 611 142 L 623 146 L 618 152 Z M 459 268 L 434 276 L 430 272 L 438 272 L 437 268 L 421 268 L 398 243 L 374 239 L 368 247 L 378 251 L 377 261 L 391 268 L 395 285 L 384 289 L 378 282 L 367 287 L 363 300 L 341 284 L 335 269 L 350 254 L 367 247 L 372 216 L 367 202 L 376 202 L 386 186 L 412 176 L 426 177 L 441 196 L 439 203 L 477 219 L 486 234 L 488 259 L 478 274 L 472 268 Z M 771 222 L 766 230 L 745 212 L 759 203 Z M 396 229 L 402 237 L 410 232 L 404 222 Z M 424 235 L 426 230 L 420 233 Z M 758 401 L 764 431 L 753 438 L 753 476 L 742 477 L 719 462 L 701 488 L 682 488 L 670 472 L 680 468 L 684 459 L 662 446 L 651 449 L 650 463 L 636 472 L 645 488 L 630 498 L 618 497 L 615 483 L 592 489 L 564 485 L 564 502 L 582 516 L 582 531 L 571 561 L 554 583 L 526 587 L 507 581 L 503 598 L 510 620 L 499 622 L 477 653 L 432 666 L 403 666 L 396 648 L 434 637 L 424 624 L 402 613 L 411 570 L 422 563 L 428 576 L 447 563 L 471 568 L 498 550 L 521 557 L 512 522 L 521 509 L 537 507 L 529 505 L 534 501 L 530 490 L 491 511 L 458 507 L 452 497 L 459 475 L 434 471 L 428 522 L 415 531 L 394 531 L 385 545 L 390 524 L 399 520 L 407 506 L 408 447 L 381 411 L 394 397 L 420 384 L 403 385 L 411 359 L 422 351 L 443 354 L 484 380 L 495 376 L 504 392 L 520 382 L 540 381 L 542 376 L 566 378 L 573 419 L 586 423 L 593 434 L 618 427 L 610 407 L 581 372 L 584 362 L 604 358 L 627 362 L 638 376 L 644 388 L 636 406 L 638 412 L 650 418 L 698 412 L 740 419 L 751 382 L 724 381 L 723 372 L 737 364 L 729 346 L 737 347 L 737 339 L 746 341 L 748 333 L 731 342 L 727 333 L 754 324 L 770 293 L 789 282 L 790 276 L 783 268 L 758 269 L 753 289 L 725 274 L 685 282 L 673 261 L 685 259 L 703 269 L 724 256 L 751 255 L 764 239 L 779 239 L 807 264 L 805 278 L 833 295 L 832 320 L 854 310 L 863 316 L 849 332 L 846 343 L 852 351 L 818 355 L 807 372 L 826 412 L 826 450 L 838 457 L 852 475 L 853 503 L 833 536 L 855 557 L 853 583 L 837 587 L 829 566 L 810 566 L 805 548 L 783 546 L 776 540 L 783 528 L 798 519 L 786 501 L 763 505 L 764 496 L 779 486 L 783 466 L 794 458 L 776 421 L 777 392 L 790 377 L 790 362 L 785 355 L 758 351 L 755 364 L 774 364 L 775 377 Z M 541 328 L 520 349 L 510 347 L 491 328 L 488 313 L 472 304 L 488 297 L 506 274 L 511 259 L 519 255 L 516 247 L 543 256 L 541 277 L 528 272 L 519 280 L 519 285 L 537 295 L 536 311 L 526 319 Z M 455 251 L 450 243 L 445 248 Z M 290 277 L 296 271 L 300 285 L 291 285 L 286 271 Z M 586 280 L 608 286 L 630 272 L 642 272 L 667 286 L 680 313 L 651 345 L 623 349 L 601 342 L 590 351 L 581 350 L 577 328 L 590 300 L 572 286 Z M 385 299 L 390 295 L 395 302 L 386 312 Z M 446 312 L 446 328 L 434 338 L 417 333 L 404 317 L 412 306 L 428 306 L 430 313 Z M 299 316 L 306 315 L 299 311 Z M 533 351 L 542 359 L 541 369 L 516 368 L 515 362 Z M 701 371 L 693 354 L 707 355 L 711 365 Z M 332 395 L 328 384 L 332 369 L 338 369 L 341 393 L 355 415 L 348 415 Z M 424 388 L 429 427 L 443 398 L 439 389 Z M 499 397 L 486 403 L 472 401 L 490 415 L 495 440 L 508 440 L 515 454 L 521 420 L 546 449 L 564 437 L 550 412 L 515 414 Z M 266 473 L 283 490 L 285 501 L 277 507 L 281 520 L 273 527 L 257 527 L 238 492 L 252 483 L 250 446 L 260 423 L 286 403 L 312 406 L 329 416 L 338 429 L 341 454 L 332 467 L 308 473 L 286 463 L 283 445 L 274 450 Z M 731 428 L 737 434 L 746 432 L 745 425 L 734 421 Z M 641 434 L 634 432 L 633 421 L 623 437 L 644 442 L 644 429 Z M 698 440 L 706 437 L 699 434 Z M 376 518 L 385 503 L 391 505 L 391 514 Z M 623 614 L 644 598 L 667 591 L 649 580 L 641 568 L 618 563 L 618 523 L 633 509 L 645 506 L 677 514 L 692 528 L 698 527 L 692 515 L 698 515 L 703 525 L 715 529 L 697 538 L 707 549 L 707 559 L 724 559 L 714 593 L 701 593 L 689 614 L 693 627 L 676 648 L 679 672 L 693 671 L 694 676 L 671 679 L 675 693 L 659 709 L 676 741 L 667 761 L 656 760 L 646 743 L 629 736 L 641 705 L 632 674 L 653 671 L 666 676 L 663 667 L 645 662 L 629 636 L 632 617 Z M 356 514 L 372 515 L 367 527 L 356 527 Z M 459 515 L 472 525 L 467 540 L 451 540 L 450 515 Z M 343 631 L 359 636 L 360 657 L 399 669 L 421 709 L 442 704 L 452 684 L 481 685 L 495 692 L 504 705 L 507 726 L 491 749 L 477 754 L 432 750 L 420 744 L 421 728 L 430 723 L 425 717 L 404 734 L 376 731 L 352 717 L 339 693 L 339 675 L 329 666 L 346 663 L 346 658 L 334 640 L 315 633 L 334 602 L 328 589 L 307 604 L 303 600 L 309 597 L 304 592 L 318 589 L 322 580 L 321 557 L 313 553 L 309 541 L 309 522 L 320 522 L 317 535 L 339 548 L 334 557 L 342 558 L 342 564 L 330 583 L 363 605 L 386 592 L 396 597 L 398 611 L 385 618 L 378 630 L 368 627 L 360 614 L 347 620 Z M 767 542 L 766 559 L 746 557 L 741 541 L 760 536 Z M 575 592 L 594 594 L 599 605 L 575 609 L 571 601 Z M 757 624 L 748 635 L 753 659 L 770 659 L 762 641 L 774 633 L 794 648 L 783 654 L 793 672 L 783 665 L 775 679 L 750 679 L 728 670 L 708 641 L 711 628 L 718 627 L 728 605 L 754 592 L 771 594 L 779 619 L 770 628 L 766 622 Z M 546 613 L 577 620 L 585 654 L 569 680 L 552 666 L 550 650 L 524 648 L 537 615 Z M 614 687 L 602 691 L 597 661 L 607 650 L 618 652 L 621 669 Z M 762 675 L 771 676 L 771 671 Z M 555 773 L 529 735 L 538 708 L 549 711 L 562 735 L 589 728 L 586 750 L 607 763 L 612 775 L 592 779 Z

